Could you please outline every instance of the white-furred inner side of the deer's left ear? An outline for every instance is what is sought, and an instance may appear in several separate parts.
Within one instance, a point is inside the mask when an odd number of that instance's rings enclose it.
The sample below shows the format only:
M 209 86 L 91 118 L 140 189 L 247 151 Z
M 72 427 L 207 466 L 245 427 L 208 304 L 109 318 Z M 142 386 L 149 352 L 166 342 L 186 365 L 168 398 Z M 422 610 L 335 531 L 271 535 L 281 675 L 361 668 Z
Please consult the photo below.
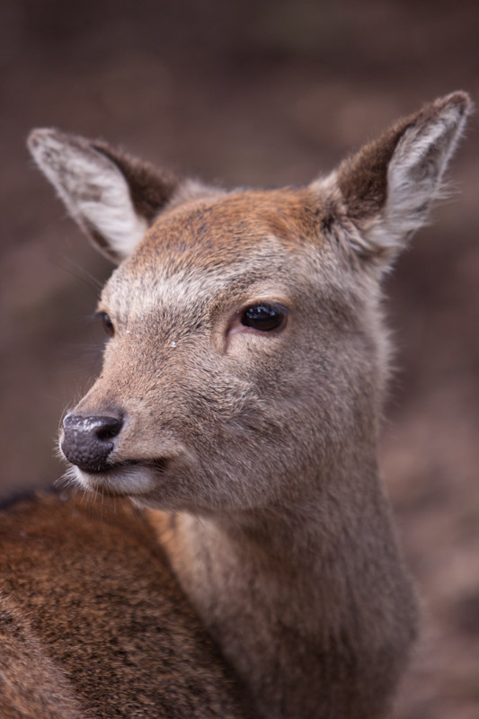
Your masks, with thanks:
M 148 224 L 138 215 L 120 169 L 91 143 L 56 129 L 35 129 L 28 145 L 36 163 L 87 234 L 110 259 L 121 260 L 145 236 Z

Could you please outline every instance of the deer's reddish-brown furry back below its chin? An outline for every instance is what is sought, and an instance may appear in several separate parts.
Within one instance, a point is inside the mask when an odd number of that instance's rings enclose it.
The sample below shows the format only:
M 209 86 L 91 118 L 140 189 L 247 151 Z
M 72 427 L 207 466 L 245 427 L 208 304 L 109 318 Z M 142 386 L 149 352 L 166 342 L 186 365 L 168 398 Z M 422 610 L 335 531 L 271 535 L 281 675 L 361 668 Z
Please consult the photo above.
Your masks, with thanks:
M 119 502 L 0 514 L 0 717 L 239 717 L 153 532 Z

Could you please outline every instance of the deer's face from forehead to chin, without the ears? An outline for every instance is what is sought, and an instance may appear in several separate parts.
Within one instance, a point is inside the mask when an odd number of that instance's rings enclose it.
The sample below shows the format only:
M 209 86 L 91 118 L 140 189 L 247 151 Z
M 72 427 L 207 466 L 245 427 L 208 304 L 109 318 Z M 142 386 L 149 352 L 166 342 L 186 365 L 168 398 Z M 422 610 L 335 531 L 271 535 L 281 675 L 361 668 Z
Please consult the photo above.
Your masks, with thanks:
M 99 305 L 102 376 L 65 421 L 84 486 L 169 509 L 249 508 L 304 492 L 332 462 L 377 359 L 324 215 L 301 211 L 313 200 L 186 203 L 120 264 Z

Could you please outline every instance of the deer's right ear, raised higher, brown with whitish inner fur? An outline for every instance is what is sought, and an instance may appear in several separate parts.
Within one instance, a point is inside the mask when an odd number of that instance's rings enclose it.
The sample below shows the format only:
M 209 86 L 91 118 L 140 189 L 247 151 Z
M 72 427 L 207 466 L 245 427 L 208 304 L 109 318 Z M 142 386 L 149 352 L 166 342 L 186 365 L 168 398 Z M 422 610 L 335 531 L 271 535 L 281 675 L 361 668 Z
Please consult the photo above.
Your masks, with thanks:
M 350 238 L 355 253 L 387 264 L 426 222 L 471 110 L 462 92 L 430 102 L 324 181 L 333 205 L 357 230 Z

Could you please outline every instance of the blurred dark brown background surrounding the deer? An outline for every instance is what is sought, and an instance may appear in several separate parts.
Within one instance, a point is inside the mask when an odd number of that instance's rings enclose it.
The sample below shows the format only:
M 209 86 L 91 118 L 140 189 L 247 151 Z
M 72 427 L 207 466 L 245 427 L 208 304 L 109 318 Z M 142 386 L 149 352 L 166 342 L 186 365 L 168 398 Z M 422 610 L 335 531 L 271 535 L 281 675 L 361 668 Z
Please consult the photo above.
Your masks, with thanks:
M 32 166 L 28 130 L 102 136 L 227 185 L 306 182 L 400 115 L 479 98 L 479 4 L 19 0 L 0 5 L 2 496 L 50 484 L 59 417 L 98 368 L 110 266 Z M 398 371 L 386 484 L 423 604 L 400 719 L 479 717 L 479 133 L 387 281 Z

